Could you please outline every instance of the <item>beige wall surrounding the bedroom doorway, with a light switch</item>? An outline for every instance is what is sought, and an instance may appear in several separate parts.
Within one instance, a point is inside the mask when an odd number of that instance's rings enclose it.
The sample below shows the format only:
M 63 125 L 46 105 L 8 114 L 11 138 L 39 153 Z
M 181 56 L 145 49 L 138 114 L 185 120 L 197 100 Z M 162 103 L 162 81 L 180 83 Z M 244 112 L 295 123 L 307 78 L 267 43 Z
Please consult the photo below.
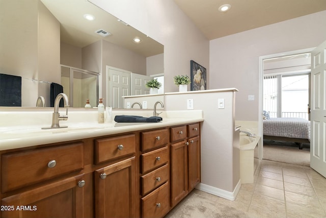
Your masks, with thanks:
M 236 87 L 236 120 L 257 121 L 259 57 L 315 47 L 326 40 L 324 26 L 326 11 L 321 11 L 211 40 L 210 88 Z M 248 101 L 248 95 L 255 100 Z

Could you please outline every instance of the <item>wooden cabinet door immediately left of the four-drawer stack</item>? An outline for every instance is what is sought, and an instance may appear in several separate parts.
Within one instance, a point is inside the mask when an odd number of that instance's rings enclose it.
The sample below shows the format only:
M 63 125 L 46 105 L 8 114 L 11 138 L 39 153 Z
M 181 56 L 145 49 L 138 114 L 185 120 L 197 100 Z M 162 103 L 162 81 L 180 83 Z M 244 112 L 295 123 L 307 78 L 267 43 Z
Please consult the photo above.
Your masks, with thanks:
M 135 158 L 95 171 L 95 217 L 135 217 Z

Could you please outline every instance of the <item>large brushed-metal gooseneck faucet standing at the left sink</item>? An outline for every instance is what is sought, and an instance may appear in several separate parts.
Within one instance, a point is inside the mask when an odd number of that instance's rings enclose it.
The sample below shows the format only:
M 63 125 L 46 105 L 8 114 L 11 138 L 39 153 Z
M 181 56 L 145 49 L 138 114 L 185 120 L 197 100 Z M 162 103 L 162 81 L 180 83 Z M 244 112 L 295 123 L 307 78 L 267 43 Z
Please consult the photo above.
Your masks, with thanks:
M 59 114 L 59 104 L 60 104 L 60 100 L 61 98 L 63 98 L 64 100 L 64 104 L 66 107 L 66 115 L 60 116 Z M 54 128 L 65 128 L 67 126 L 60 126 L 59 125 L 59 121 L 60 120 L 68 120 L 68 107 L 69 107 L 69 103 L 68 103 L 68 96 L 64 93 L 60 93 L 59 95 L 57 95 L 56 100 L 55 100 L 55 109 L 54 112 L 52 114 L 52 124 L 51 127 L 42 127 L 42 129 L 54 129 Z

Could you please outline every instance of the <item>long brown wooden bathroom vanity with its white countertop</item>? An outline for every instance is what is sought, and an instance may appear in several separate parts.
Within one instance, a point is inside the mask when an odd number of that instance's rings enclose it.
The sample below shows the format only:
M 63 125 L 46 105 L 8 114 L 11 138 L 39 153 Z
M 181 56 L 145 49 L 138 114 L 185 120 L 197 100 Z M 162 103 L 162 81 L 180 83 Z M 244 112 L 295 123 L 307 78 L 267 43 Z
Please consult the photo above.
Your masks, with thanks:
M 1 217 L 162 217 L 200 182 L 201 121 L 113 122 L 31 133 L 33 143 L 24 133 L 1 140 Z

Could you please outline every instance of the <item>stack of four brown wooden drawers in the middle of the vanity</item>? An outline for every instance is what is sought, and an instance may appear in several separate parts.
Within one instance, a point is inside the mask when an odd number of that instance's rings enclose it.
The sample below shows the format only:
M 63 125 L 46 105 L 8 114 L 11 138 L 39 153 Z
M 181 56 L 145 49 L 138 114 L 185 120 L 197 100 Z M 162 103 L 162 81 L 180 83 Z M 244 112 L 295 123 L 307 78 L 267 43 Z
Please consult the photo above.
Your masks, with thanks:
M 163 217 L 170 210 L 168 128 L 141 132 L 141 217 Z

